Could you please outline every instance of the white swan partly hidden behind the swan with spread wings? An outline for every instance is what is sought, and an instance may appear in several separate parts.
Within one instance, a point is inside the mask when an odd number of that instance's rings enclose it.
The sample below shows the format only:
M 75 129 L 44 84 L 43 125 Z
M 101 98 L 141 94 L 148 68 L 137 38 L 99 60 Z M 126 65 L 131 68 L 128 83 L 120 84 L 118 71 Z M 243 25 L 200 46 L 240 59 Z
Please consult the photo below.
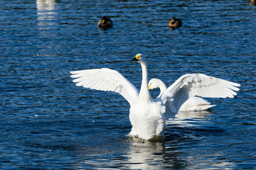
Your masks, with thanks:
M 161 79 L 155 78 L 149 80 L 148 86 L 149 90 L 156 88 L 160 89 L 160 94 L 158 97 L 160 97 L 161 94 L 163 94 L 164 91 L 166 91 L 167 89 L 166 85 L 164 84 L 163 81 L 161 81 Z M 213 106 L 216 105 L 211 105 L 210 102 L 206 101 L 205 99 L 193 96 L 191 98 L 188 98 L 188 100 L 181 105 L 181 108 L 179 108 L 178 111 L 206 111 L 209 108 L 212 108 Z

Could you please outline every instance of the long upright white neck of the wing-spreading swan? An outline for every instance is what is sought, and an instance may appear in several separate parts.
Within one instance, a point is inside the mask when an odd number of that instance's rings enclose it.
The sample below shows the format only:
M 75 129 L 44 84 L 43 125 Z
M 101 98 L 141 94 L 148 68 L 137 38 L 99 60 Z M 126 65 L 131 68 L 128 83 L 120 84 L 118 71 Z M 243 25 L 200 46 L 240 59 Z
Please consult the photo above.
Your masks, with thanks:
M 153 101 L 151 98 L 151 95 L 149 93 L 148 89 L 148 76 L 147 76 L 147 68 L 146 68 L 146 63 L 141 62 L 142 65 L 142 86 L 139 92 L 139 98 L 143 98 L 143 100 L 146 101 Z

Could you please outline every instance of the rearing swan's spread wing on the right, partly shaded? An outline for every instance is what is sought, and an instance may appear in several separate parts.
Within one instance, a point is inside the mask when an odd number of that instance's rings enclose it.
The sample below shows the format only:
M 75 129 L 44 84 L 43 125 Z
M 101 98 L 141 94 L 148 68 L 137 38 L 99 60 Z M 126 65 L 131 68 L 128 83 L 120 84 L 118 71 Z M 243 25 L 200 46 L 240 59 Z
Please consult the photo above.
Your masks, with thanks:
M 240 84 L 209 77 L 205 74 L 185 74 L 169 86 L 161 96 L 162 101 L 172 101 L 174 108 L 171 111 L 177 112 L 181 105 L 192 96 L 207 98 L 233 98 L 239 91 Z

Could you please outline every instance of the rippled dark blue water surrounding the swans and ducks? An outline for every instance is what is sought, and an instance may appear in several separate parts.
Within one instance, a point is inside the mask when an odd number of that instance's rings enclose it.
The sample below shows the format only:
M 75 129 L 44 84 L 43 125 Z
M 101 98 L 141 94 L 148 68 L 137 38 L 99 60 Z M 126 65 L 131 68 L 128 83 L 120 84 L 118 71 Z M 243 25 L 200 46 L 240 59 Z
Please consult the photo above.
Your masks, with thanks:
M 105 15 L 114 28 L 99 30 Z M 254 169 L 255 18 L 246 0 L 0 1 L 0 169 Z M 129 140 L 129 103 L 69 72 L 116 69 L 139 88 L 139 52 L 149 79 L 201 72 L 241 84 L 238 96 L 176 115 L 165 142 Z

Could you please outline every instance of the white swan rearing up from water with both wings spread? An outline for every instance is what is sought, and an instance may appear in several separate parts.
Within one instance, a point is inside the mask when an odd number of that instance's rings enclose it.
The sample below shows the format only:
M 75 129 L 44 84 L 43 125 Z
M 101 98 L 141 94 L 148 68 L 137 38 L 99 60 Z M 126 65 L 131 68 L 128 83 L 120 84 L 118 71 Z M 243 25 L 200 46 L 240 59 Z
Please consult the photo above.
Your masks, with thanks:
M 101 91 L 115 91 L 130 104 L 129 120 L 132 124 L 130 137 L 150 140 L 154 136 L 164 135 L 166 120 L 177 113 L 181 104 L 192 96 L 233 98 L 239 89 L 235 84 L 223 79 L 208 77 L 205 74 L 186 74 L 179 78 L 159 98 L 154 101 L 147 86 L 146 59 L 137 54 L 133 61 L 142 65 L 142 86 L 140 91 L 119 72 L 102 69 L 85 69 L 70 72 L 76 86 Z

